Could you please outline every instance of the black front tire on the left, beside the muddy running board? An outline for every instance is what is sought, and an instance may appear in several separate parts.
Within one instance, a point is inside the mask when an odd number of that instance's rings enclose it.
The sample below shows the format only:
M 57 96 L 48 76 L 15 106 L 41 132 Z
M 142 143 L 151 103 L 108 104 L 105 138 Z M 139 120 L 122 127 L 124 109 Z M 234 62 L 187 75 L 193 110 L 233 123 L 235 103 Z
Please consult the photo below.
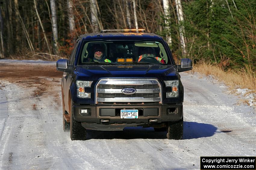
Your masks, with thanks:
M 72 103 L 72 101 L 71 101 Z M 86 140 L 86 129 L 80 122 L 74 120 L 73 107 L 70 109 L 70 138 L 71 140 Z

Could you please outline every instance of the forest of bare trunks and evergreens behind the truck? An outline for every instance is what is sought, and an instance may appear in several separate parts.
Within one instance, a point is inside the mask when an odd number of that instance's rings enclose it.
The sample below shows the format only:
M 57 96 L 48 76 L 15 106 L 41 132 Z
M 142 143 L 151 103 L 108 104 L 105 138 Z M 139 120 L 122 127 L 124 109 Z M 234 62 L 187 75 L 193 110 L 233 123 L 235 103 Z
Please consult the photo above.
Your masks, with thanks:
M 0 0 L 0 5 L 0 58 L 56 61 L 69 58 L 80 34 L 144 28 L 164 37 L 176 61 L 206 64 L 200 66 L 205 74 L 213 71 L 210 66 L 242 73 L 247 79 L 240 86 L 256 89 L 255 0 Z

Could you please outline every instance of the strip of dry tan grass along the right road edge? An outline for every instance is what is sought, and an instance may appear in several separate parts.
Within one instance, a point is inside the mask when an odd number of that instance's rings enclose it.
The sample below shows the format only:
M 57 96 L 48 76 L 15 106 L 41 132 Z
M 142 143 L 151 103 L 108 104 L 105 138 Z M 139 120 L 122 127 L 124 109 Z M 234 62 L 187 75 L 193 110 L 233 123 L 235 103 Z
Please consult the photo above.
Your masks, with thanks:
M 249 66 L 241 70 L 223 71 L 217 65 L 202 62 L 193 66 L 193 72 L 213 76 L 214 79 L 224 82 L 231 90 L 248 88 L 256 93 L 256 73 Z

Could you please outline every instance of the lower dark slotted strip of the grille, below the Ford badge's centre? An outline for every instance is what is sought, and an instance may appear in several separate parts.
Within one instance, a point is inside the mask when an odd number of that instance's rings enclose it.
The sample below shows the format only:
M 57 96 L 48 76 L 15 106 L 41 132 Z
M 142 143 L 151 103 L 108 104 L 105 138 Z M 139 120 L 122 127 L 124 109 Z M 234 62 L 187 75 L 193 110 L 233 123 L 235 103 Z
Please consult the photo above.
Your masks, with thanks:
M 103 98 L 114 98 L 114 97 L 144 97 L 144 98 L 154 98 L 159 97 L 159 93 L 136 93 L 132 95 L 126 95 L 122 93 L 98 93 L 98 97 Z

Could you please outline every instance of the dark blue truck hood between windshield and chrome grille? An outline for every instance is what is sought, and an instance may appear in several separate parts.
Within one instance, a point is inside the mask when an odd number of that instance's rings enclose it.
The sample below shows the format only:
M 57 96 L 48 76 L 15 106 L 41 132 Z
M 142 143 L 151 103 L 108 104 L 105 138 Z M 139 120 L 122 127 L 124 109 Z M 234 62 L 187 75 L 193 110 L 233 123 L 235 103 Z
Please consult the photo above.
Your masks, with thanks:
M 101 78 L 157 78 L 176 79 L 175 65 L 77 65 L 74 73 L 79 79 L 99 80 Z

